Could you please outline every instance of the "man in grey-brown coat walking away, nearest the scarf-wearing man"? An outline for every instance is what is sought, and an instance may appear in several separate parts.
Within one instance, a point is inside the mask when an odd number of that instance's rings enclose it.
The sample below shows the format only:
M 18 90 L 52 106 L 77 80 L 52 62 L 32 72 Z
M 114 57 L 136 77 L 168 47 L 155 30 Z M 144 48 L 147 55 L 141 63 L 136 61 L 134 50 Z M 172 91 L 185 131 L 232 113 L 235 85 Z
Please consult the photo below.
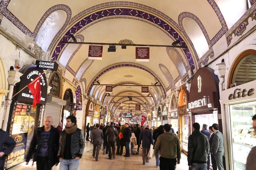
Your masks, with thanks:
M 95 158 L 96 161 L 98 161 L 99 150 L 102 144 L 102 140 L 103 140 L 103 132 L 101 129 L 99 129 L 99 124 L 97 123 L 96 129 L 93 129 L 91 141 L 90 141 L 90 143 L 93 144 L 93 158 Z M 95 157 L 95 152 L 96 152 L 96 157 Z

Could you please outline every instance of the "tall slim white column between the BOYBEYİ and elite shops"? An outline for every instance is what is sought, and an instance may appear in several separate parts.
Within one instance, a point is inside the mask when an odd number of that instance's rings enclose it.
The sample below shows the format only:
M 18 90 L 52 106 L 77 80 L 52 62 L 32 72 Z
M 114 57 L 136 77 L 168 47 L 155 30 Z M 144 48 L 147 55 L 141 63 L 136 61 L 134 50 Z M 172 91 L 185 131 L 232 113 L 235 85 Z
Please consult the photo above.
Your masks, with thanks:
M 223 83 L 224 83 L 224 77 L 226 74 L 226 65 L 224 62 L 221 62 L 220 64 L 216 65 L 214 67 L 214 74 L 216 74 L 220 80 L 219 82 L 219 93 L 220 93 L 220 104 L 221 104 L 221 115 L 218 115 L 218 117 L 221 117 L 222 121 L 222 130 L 223 130 L 223 137 L 224 137 L 224 151 L 225 151 L 225 160 L 226 160 L 226 169 L 230 170 L 229 162 L 232 162 L 232 158 L 229 156 L 228 152 L 228 136 L 227 136 L 227 124 L 228 121 L 228 114 L 225 113 L 225 106 L 222 103 L 222 91 L 223 91 Z M 227 117 L 226 117 L 227 116 Z M 230 159 L 231 158 L 231 159 Z M 230 161 L 229 161 L 230 160 Z

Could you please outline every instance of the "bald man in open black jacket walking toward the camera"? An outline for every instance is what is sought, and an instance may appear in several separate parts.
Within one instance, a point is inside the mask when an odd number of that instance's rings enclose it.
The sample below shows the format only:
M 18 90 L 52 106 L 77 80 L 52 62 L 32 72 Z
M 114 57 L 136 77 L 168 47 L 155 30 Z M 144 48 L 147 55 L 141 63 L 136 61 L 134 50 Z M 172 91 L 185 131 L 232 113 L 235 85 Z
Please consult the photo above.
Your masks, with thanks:
M 53 165 L 58 165 L 58 147 L 59 147 L 59 132 L 58 129 L 52 126 L 52 117 L 47 116 L 44 119 L 44 126 L 38 128 L 34 133 L 32 142 L 29 147 L 29 153 L 26 157 L 26 164 L 29 159 L 35 154 L 37 170 L 50 170 Z M 36 148 L 37 146 L 37 148 Z

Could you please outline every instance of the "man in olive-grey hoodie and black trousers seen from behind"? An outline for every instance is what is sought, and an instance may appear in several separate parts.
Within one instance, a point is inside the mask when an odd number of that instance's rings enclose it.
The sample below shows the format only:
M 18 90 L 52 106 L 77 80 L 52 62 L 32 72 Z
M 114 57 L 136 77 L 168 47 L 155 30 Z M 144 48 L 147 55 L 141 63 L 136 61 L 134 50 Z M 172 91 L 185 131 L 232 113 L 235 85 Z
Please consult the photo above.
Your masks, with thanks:
M 164 133 L 157 137 L 154 145 L 154 153 L 158 157 L 160 152 L 160 170 L 175 170 L 175 165 L 180 164 L 180 140 L 174 133 L 170 133 L 171 126 L 163 126 Z

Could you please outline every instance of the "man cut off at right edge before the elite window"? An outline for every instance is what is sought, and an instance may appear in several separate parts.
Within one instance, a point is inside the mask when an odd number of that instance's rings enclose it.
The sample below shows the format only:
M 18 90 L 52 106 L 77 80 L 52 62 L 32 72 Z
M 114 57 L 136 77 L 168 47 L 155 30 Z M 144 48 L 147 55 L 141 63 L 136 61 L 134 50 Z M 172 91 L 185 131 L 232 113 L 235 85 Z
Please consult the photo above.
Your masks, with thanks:
M 256 133 L 256 115 L 253 116 L 253 129 L 254 129 L 254 133 Z M 250 151 L 247 157 L 246 170 L 255 170 L 255 167 L 256 167 L 256 147 L 253 147 L 253 149 Z

